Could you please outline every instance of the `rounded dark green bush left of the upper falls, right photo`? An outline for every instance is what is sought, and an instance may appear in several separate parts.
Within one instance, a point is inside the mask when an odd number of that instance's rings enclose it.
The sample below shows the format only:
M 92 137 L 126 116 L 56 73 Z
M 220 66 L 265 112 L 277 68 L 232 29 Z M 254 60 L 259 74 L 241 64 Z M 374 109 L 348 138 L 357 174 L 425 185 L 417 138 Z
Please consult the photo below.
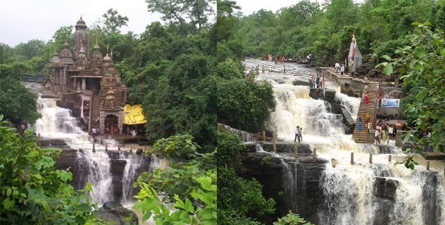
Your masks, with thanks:
M 265 128 L 275 110 L 272 85 L 245 78 L 218 80 L 218 121 L 243 131 Z

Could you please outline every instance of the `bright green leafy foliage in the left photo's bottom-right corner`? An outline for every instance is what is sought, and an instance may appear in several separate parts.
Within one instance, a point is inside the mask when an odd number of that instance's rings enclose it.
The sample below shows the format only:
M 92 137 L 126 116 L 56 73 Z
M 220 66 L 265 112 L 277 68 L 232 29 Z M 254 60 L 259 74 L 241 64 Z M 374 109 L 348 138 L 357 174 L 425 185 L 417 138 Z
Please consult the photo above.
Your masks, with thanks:
M 143 211 L 143 221 L 153 213 L 156 224 L 216 224 L 216 160 L 214 153 L 198 153 L 199 148 L 191 135 L 156 141 L 149 154 L 172 156 L 173 161 L 170 167 L 145 172 L 136 181 L 141 190 L 133 208 Z M 161 200 L 158 192 L 167 196 Z M 171 214 L 165 206 L 169 202 L 177 208 Z

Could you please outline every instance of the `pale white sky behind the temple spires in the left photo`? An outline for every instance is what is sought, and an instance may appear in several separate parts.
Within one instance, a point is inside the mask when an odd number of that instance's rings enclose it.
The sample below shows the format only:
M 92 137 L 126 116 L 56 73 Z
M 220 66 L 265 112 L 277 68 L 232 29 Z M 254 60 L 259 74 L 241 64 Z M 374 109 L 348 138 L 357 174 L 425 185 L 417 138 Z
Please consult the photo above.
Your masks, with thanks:
M 35 38 L 48 41 L 60 26 L 74 26 L 81 15 L 90 26 L 109 8 L 129 18 L 128 26 L 120 28 L 123 33 L 143 33 L 145 26 L 161 21 L 160 14 L 148 12 L 145 0 L 2 0 L 0 43 L 14 47 Z

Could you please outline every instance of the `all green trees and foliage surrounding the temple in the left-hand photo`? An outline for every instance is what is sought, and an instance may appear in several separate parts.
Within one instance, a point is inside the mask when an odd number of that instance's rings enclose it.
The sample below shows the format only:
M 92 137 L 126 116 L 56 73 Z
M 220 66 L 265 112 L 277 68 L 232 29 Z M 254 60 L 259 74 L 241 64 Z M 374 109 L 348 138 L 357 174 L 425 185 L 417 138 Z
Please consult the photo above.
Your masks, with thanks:
M 159 1 L 146 3 L 147 11 L 161 13 L 164 22 L 148 24 L 140 35 L 121 33 L 129 19 L 113 8 L 88 30 L 103 55 L 107 47 L 112 51 L 128 103 L 143 105 L 147 138 L 154 142 L 147 155 L 172 159 L 167 169 L 140 176 L 134 208 L 143 212 L 144 221 L 152 217 L 156 224 L 216 224 L 214 3 L 181 1 L 181 8 L 175 7 L 179 1 L 170 8 Z M 91 188 L 74 191 L 71 173 L 54 169 L 60 149 L 40 148 L 32 131 L 19 135 L 10 128 L 33 124 L 41 116 L 37 96 L 20 83 L 20 74 L 49 74 L 52 53 L 72 39 L 72 29 L 70 24 L 60 27 L 49 41 L 0 44 L 0 221 L 7 224 L 102 223 L 92 212 L 97 206 L 88 198 Z M 158 192 L 168 197 L 159 199 Z M 170 213 L 165 203 L 172 202 L 178 210 Z

